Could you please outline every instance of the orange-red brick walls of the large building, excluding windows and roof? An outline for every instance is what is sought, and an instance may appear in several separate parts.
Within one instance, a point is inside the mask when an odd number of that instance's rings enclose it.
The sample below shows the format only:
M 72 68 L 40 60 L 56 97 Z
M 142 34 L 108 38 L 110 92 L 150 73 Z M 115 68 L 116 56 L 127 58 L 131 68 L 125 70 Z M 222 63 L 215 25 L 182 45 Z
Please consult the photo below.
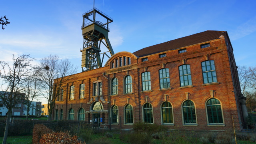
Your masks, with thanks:
M 200 45 L 205 43 L 209 43 L 210 46 L 201 48 Z M 186 52 L 178 52 L 184 48 L 186 48 Z M 163 53 L 166 53 L 166 56 L 160 58 L 159 54 Z M 100 124 L 108 124 L 108 106 L 110 105 L 112 108 L 116 105 L 118 107 L 118 122 L 112 123 L 112 127 L 131 128 L 133 123 L 145 120 L 143 107 L 144 104 L 149 103 L 152 105 L 153 123 L 163 124 L 171 129 L 233 130 L 233 120 L 235 129 L 242 129 L 244 115 L 241 101 L 244 100 L 244 97 L 240 92 L 233 49 L 227 32 L 223 32 L 212 40 L 188 44 L 176 49 L 144 54 L 144 56 L 135 54 L 136 52 L 133 54 L 118 52 L 108 60 L 105 67 L 74 74 L 68 83 L 63 84 L 63 99 L 56 101 L 53 112 L 54 119 L 56 116 L 60 119 L 60 110 L 62 110 L 62 119 L 68 120 L 68 111 L 72 108 L 74 109 L 74 120 L 78 120 L 78 111 L 80 108 L 84 108 L 85 114 L 82 116 L 86 122 L 94 123 L 96 114 L 100 114 L 102 118 Z M 120 57 L 122 57 L 123 66 L 116 67 L 115 60 L 118 58 L 119 63 Z M 126 66 L 124 66 L 124 57 L 126 57 Z M 129 65 L 128 58 L 131 60 Z M 143 58 L 148 58 L 148 60 L 143 62 Z M 201 62 L 206 60 L 214 60 L 216 82 L 204 83 Z M 112 62 L 114 62 L 114 68 L 112 68 Z M 190 65 L 192 85 L 180 85 L 179 66 L 183 64 Z M 162 68 L 169 70 L 170 88 L 160 89 L 159 70 Z M 143 72 L 150 72 L 151 90 L 142 91 Z M 124 78 L 128 75 L 132 77 L 132 92 L 124 94 Z M 118 80 L 118 94 L 112 95 L 111 82 L 113 78 Z M 102 95 L 94 96 L 94 82 L 102 82 Z M 80 84 L 82 83 L 85 84 L 84 98 L 79 98 Z M 74 99 L 70 100 L 70 86 L 72 85 L 74 85 Z M 220 112 L 219 116 L 222 115 L 220 117 L 223 122 L 212 124 L 208 120 L 209 112 L 206 109 L 206 102 L 211 98 L 220 102 L 221 110 L 218 112 Z M 196 120 L 193 124 L 185 123 L 184 120 L 186 112 L 182 106 L 186 100 L 191 100 L 194 103 Z M 93 110 L 95 102 L 102 104 L 102 110 Z M 163 123 L 162 104 L 164 102 L 170 102 L 172 106 L 173 120 L 169 124 Z M 132 106 L 133 123 L 125 123 L 124 113 L 127 104 Z M 58 110 L 58 115 L 56 115 L 56 110 Z

